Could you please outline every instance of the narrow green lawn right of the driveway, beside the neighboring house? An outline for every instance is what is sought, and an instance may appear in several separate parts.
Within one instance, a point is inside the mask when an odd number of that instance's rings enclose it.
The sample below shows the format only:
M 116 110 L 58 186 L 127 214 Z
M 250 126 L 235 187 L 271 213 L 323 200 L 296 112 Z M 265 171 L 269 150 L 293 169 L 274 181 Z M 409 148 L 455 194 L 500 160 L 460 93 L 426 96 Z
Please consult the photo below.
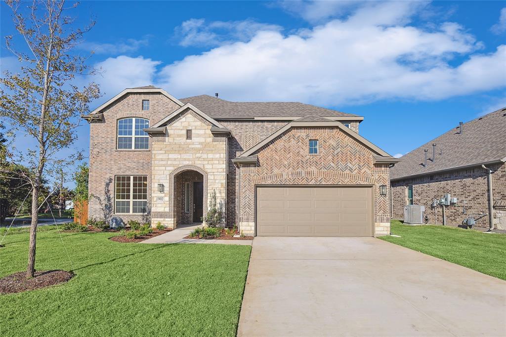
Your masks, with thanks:
M 392 220 L 392 234 L 382 240 L 421 251 L 506 280 L 506 235 L 434 225 L 407 226 Z

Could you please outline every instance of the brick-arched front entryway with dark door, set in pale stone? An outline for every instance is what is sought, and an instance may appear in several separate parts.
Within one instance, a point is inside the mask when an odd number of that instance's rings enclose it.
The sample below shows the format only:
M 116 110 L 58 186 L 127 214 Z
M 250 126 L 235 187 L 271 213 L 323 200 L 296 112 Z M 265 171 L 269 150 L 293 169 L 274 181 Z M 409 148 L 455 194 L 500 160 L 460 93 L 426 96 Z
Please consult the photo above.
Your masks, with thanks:
M 199 167 L 190 166 L 181 167 L 173 177 L 176 227 L 202 223 L 207 204 L 207 174 Z

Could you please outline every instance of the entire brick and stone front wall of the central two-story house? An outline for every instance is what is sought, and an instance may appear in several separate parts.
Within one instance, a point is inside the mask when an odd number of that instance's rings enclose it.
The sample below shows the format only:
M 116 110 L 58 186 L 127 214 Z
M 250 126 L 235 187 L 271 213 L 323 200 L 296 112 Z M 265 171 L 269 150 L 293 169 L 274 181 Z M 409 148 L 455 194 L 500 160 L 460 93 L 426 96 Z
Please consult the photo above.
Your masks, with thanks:
M 142 110 L 142 100 L 150 101 L 148 111 Z M 176 102 L 161 93 L 129 93 L 104 108 L 104 120 L 90 123 L 90 206 L 89 216 L 108 221 L 111 216 L 120 216 L 124 221 L 138 220 L 151 222 L 154 226 L 161 222 L 168 227 L 190 224 L 193 221 L 193 209 L 185 212 L 185 183 L 203 182 L 203 214 L 207 209 L 208 196 L 213 190 L 217 192 L 218 202 L 226 209 L 227 225 L 241 223 L 245 232 L 254 227 L 251 217 L 251 200 L 254 191 L 250 186 L 242 187 L 241 179 L 247 181 L 247 175 L 239 178 L 240 170 L 231 161 L 240 153 L 261 142 L 289 121 L 287 120 L 219 120 L 232 136 L 213 134 L 211 123 L 191 110 L 186 110 L 173 120 L 167 121 L 164 134 L 149 137 L 147 150 L 118 150 L 117 121 L 126 117 L 149 119 L 153 125 L 173 111 L 180 108 Z M 205 113 L 205 111 L 204 111 Z M 343 121 L 346 123 L 346 121 Z M 350 129 L 358 133 L 358 121 L 349 121 Z M 186 130 L 192 130 L 192 139 L 186 139 Z M 306 131 L 304 131 L 306 130 Z M 378 197 L 379 184 L 387 184 L 388 166 L 372 164 L 369 150 L 345 136 L 338 129 L 301 129 L 300 137 L 322 137 L 322 154 L 305 161 L 297 159 L 307 157 L 306 145 L 300 152 L 298 144 L 286 143 L 276 153 L 270 149 L 261 151 L 265 160 L 260 168 L 263 173 L 272 176 L 279 173 L 294 175 L 285 180 L 267 178 L 265 182 L 304 184 L 368 184 L 374 185 L 376 234 L 389 232 L 389 204 L 385 197 Z M 305 135 L 305 136 L 304 136 Z M 304 139 L 306 139 L 304 138 Z M 332 141 L 338 143 L 332 144 Z M 292 142 L 290 140 L 289 142 Z M 276 148 L 279 144 L 276 142 Z M 291 144 L 291 145 L 290 145 Z M 304 153 L 303 153 L 304 152 Z M 280 161 L 280 157 L 291 153 L 290 170 L 269 164 L 269 160 Z M 267 158 L 270 156 L 270 158 Z M 297 162 L 297 165 L 295 164 Z M 270 170 L 270 171 L 269 171 Z M 298 175 L 304 175 L 300 179 Z M 146 176 L 148 195 L 146 214 L 117 214 L 115 212 L 115 176 Z M 262 178 L 262 179 L 264 179 Z M 163 185 L 163 192 L 158 192 L 158 184 Z M 247 184 L 246 184 L 247 185 Z M 190 202 L 193 204 L 193 189 L 190 188 Z M 248 196 L 247 196 L 248 195 Z M 249 224 L 248 224 L 249 223 Z M 379 224 L 379 225 L 378 225 Z

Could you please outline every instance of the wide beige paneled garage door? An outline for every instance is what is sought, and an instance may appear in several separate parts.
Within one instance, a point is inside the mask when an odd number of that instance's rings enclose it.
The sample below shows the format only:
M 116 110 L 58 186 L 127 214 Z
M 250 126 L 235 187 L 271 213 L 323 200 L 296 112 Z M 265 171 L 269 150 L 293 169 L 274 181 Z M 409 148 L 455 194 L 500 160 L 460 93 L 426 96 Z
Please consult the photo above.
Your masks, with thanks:
M 259 236 L 372 236 L 372 188 L 257 188 Z

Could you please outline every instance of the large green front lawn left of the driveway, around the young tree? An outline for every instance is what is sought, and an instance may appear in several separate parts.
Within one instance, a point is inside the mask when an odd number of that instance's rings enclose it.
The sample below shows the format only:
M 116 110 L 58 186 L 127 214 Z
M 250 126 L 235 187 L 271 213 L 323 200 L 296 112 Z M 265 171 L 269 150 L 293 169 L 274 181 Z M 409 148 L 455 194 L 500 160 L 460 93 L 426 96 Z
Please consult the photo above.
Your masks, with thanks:
M 111 233 L 37 233 L 37 270 L 66 284 L 0 295 L 0 336 L 234 336 L 250 246 L 136 244 Z M 28 234 L 8 235 L 0 277 L 26 268 Z

